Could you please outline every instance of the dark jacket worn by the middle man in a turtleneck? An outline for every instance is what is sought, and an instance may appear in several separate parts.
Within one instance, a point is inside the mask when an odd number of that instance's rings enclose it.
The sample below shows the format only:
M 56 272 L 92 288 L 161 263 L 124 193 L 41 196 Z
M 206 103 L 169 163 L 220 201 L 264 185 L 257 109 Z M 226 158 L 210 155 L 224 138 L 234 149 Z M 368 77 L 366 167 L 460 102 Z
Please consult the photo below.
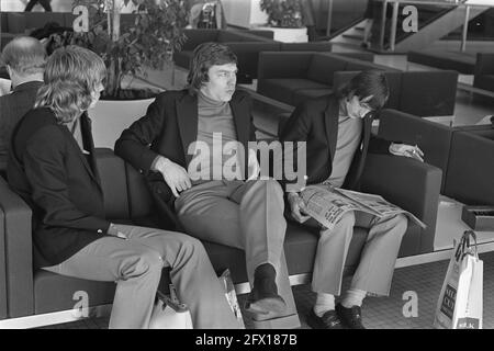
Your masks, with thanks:
M 251 116 L 251 100 L 248 93 L 236 91 L 229 102 L 234 117 L 237 140 L 248 148 L 249 140 L 256 140 Z M 171 223 L 178 225 L 173 215 L 175 197 L 162 177 L 150 171 L 153 161 L 162 155 L 171 161 L 188 168 L 192 155 L 187 155 L 189 145 L 198 138 L 198 98 L 187 90 L 160 93 L 147 109 L 146 115 L 125 129 L 115 144 L 115 154 L 128 161 L 146 176 L 151 194 L 161 212 Z M 247 161 L 247 157 L 246 157 Z M 246 165 L 243 173 L 246 174 Z

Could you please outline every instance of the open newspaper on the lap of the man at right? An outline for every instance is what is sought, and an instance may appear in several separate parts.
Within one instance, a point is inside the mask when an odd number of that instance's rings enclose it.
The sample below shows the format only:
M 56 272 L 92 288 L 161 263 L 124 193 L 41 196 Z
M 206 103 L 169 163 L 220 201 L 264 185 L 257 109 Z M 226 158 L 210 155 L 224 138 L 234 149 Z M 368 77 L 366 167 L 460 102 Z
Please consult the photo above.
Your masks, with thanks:
M 349 211 L 362 211 L 380 218 L 400 213 L 405 214 L 422 228 L 426 225 L 412 213 L 393 205 L 380 195 L 333 188 L 330 184 L 310 185 L 301 193 L 307 215 L 328 229 Z

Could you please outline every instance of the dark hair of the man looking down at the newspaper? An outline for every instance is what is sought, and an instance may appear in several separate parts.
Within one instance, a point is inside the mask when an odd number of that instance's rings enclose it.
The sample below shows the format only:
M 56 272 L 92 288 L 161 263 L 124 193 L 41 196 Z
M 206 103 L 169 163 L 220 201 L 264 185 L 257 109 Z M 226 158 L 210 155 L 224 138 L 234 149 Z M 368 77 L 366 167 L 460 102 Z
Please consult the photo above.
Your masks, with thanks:
M 357 97 L 363 99 L 372 95 L 367 103 L 377 111 L 382 109 L 390 97 L 388 79 L 383 71 L 364 70 L 355 76 L 348 83 L 340 87 L 337 91 L 339 99 Z

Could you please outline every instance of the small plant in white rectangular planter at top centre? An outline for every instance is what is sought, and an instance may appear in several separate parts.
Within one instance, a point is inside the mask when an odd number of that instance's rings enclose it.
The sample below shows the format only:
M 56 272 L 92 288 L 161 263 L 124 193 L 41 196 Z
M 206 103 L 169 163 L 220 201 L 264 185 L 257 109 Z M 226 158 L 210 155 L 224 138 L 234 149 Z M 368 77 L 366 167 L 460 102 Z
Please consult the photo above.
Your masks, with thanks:
M 268 15 L 267 30 L 279 42 L 307 42 L 303 0 L 260 0 L 260 9 Z

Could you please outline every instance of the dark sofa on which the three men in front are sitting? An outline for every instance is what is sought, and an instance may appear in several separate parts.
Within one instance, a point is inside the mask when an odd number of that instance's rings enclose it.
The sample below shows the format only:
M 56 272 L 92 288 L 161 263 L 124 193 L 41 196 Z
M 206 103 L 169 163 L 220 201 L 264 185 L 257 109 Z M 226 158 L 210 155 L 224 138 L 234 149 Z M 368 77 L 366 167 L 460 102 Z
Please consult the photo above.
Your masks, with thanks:
M 141 174 L 114 156 L 112 150 L 98 149 L 97 152 L 108 217 L 116 223 L 153 225 L 153 204 Z M 364 174 L 367 191 L 383 194 L 428 225 L 427 230 L 420 230 L 416 225 L 409 226 L 400 256 L 431 251 L 440 170 L 416 160 L 381 155 L 369 157 Z M 403 186 L 405 183 L 406 186 Z M 363 229 L 356 230 L 347 259 L 347 272 L 351 272 L 352 264 L 357 262 L 366 235 Z M 296 224 L 289 225 L 284 248 L 291 275 L 312 271 L 316 242 L 316 235 L 300 229 Z M 217 272 L 228 268 L 236 284 L 247 281 L 242 250 L 211 242 L 204 245 Z M 66 278 L 45 271 L 33 272 L 31 211 L 2 178 L 0 247 L 0 318 L 71 309 L 76 303 L 74 294 L 78 291 L 88 293 L 90 306 L 112 303 L 113 283 Z M 166 276 L 164 274 L 162 283 L 167 282 Z

